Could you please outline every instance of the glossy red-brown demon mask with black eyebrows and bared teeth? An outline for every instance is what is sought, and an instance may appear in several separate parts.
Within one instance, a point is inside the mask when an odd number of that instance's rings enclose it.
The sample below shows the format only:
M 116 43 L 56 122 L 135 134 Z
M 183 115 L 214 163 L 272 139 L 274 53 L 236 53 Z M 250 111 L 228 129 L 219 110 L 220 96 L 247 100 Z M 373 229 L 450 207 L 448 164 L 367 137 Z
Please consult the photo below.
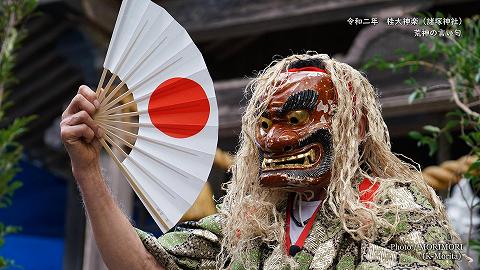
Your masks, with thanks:
M 282 73 L 258 123 L 260 183 L 305 191 L 326 188 L 332 165 L 336 92 L 325 71 L 307 67 Z

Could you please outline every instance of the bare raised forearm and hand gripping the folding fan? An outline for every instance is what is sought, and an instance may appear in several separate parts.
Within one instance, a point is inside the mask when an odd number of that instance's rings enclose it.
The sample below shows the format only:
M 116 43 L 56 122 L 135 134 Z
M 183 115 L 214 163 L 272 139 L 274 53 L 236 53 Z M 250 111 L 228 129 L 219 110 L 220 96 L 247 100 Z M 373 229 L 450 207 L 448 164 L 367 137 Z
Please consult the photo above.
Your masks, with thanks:
M 85 202 L 95 241 L 109 269 L 163 269 L 146 250 L 102 178 L 99 167 L 102 131 L 92 116 L 99 102 L 95 92 L 81 86 L 62 115 L 62 141 Z

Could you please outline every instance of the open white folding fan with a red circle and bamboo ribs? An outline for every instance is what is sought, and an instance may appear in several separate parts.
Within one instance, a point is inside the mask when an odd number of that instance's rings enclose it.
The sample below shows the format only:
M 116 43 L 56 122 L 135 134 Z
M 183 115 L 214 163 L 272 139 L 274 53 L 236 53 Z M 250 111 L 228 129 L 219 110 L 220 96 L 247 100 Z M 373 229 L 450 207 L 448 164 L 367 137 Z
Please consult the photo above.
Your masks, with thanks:
M 162 231 L 191 207 L 218 138 L 213 82 L 185 29 L 148 0 L 125 0 L 97 87 L 101 144 Z

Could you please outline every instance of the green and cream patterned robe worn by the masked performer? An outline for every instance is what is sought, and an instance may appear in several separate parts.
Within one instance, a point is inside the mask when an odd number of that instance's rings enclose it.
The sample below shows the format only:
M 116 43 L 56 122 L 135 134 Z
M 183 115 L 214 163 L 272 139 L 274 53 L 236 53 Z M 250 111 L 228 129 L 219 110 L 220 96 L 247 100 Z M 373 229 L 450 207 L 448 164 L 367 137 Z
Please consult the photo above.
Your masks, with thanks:
M 392 203 L 399 207 L 432 210 L 428 200 L 411 185 L 399 184 L 390 194 Z M 438 244 L 450 243 L 451 237 L 436 218 L 418 216 L 413 212 L 401 215 L 401 222 L 393 233 L 380 229 L 377 239 L 367 242 L 355 241 L 338 220 L 327 219 L 320 213 L 303 250 L 294 256 L 298 269 L 457 268 L 451 255 L 459 256 L 461 250 L 439 250 L 445 246 L 439 247 Z M 220 216 L 212 215 L 198 222 L 182 223 L 159 238 L 141 230 L 137 232 L 147 250 L 166 269 L 215 269 L 222 237 L 221 224 Z M 258 269 L 266 269 L 264 265 L 289 269 L 282 257 L 267 245 L 259 244 L 251 254 L 258 262 Z M 243 267 L 234 262 L 232 269 Z

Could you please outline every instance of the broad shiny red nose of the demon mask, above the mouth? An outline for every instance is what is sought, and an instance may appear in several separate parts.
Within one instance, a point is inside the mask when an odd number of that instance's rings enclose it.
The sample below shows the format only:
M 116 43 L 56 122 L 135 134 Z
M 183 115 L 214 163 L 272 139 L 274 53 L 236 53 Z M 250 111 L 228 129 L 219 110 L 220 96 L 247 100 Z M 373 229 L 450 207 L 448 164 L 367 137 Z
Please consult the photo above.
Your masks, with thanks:
M 265 138 L 265 150 L 271 153 L 288 153 L 298 145 L 298 134 L 281 126 L 272 126 Z

